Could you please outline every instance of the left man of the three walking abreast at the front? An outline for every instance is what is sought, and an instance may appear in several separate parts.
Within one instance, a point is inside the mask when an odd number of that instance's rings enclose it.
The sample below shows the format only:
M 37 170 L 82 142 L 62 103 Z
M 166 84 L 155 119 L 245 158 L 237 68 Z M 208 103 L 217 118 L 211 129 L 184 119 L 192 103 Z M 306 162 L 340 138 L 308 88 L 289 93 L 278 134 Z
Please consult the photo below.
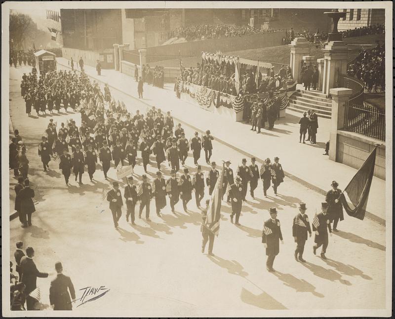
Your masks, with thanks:
M 275 257 L 280 251 L 279 241 L 283 244 L 280 221 L 277 217 L 277 210 L 275 207 L 271 207 L 269 210 L 270 218 L 263 224 L 262 230 L 262 243 L 265 244 L 266 255 L 268 259 L 266 261 L 266 269 L 270 272 L 275 271 L 273 269 L 273 263 Z

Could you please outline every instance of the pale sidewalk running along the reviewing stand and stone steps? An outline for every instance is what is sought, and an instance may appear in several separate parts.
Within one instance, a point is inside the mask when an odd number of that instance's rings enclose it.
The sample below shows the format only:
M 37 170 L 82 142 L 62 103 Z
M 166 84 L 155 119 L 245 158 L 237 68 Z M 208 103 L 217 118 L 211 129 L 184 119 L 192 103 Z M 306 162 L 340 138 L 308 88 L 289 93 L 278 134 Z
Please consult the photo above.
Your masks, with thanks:
M 57 61 L 59 65 L 68 68 L 67 59 L 57 58 Z M 92 78 L 108 83 L 110 87 L 130 96 L 130 101 L 123 101 L 127 107 L 133 105 L 133 99 L 138 99 L 137 83 L 132 77 L 115 70 L 102 70 L 102 75 L 99 76 L 93 67 L 84 66 L 84 69 Z M 274 130 L 263 129 L 258 135 L 251 132 L 247 124 L 224 119 L 220 115 L 177 99 L 173 87 L 173 84 L 167 83 L 164 89 L 159 89 L 145 83 L 144 99 L 139 101 L 148 107 L 161 108 L 163 112 L 170 111 L 175 125 L 181 122 L 199 132 L 210 129 L 217 141 L 237 149 L 246 157 L 256 157 L 259 165 L 267 157 L 273 160 L 275 156 L 278 156 L 287 177 L 321 194 L 325 194 L 331 188 L 332 180 L 336 180 L 339 188 L 344 189 L 356 174 L 356 169 L 333 162 L 328 156 L 322 155 L 325 142 L 329 140 L 329 119 L 318 119 L 317 141 L 319 142 L 317 145 L 301 144 L 299 143 L 299 124 L 297 124 L 298 113 L 287 111 L 285 118 L 275 122 Z M 280 140 L 279 137 L 281 137 Z M 213 157 L 218 159 L 215 149 Z M 238 164 L 232 163 L 233 168 L 236 169 Z M 385 193 L 385 180 L 373 177 L 366 216 L 382 224 L 385 224 L 386 220 Z

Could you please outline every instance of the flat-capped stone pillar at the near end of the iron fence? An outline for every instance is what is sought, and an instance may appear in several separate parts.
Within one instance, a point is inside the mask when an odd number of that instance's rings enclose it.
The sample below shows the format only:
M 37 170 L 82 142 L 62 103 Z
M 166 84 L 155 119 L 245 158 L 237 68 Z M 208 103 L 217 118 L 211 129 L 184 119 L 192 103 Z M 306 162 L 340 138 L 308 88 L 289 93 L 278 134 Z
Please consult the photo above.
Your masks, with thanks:
M 330 89 L 332 95 L 332 117 L 329 134 L 329 159 L 336 162 L 337 130 L 344 128 L 345 106 L 353 94 L 352 89 L 344 87 Z

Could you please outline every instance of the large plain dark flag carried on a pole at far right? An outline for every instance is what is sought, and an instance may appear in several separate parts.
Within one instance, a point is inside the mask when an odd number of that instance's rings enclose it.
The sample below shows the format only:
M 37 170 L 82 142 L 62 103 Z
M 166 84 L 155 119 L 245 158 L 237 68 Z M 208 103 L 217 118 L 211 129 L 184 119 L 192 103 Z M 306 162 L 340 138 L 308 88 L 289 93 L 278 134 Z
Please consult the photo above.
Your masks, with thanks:
M 376 162 L 376 147 L 369 154 L 356 175 L 351 179 L 344 189 L 340 199 L 349 216 L 363 220 L 366 212 L 367 199 L 369 197 L 370 185 L 373 179 L 374 165 Z M 350 207 L 345 194 L 347 194 L 354 207 Z

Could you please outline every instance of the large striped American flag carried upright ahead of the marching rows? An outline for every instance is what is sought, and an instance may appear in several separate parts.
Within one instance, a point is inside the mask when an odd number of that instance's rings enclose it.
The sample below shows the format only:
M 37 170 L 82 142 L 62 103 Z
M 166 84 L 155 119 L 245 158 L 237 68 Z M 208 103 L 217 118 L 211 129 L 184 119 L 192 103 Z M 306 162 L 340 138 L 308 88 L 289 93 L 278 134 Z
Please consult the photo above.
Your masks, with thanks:
M 205 221 L 207 228 L 216 236 L 219 234 L 219 221 L 221 219 L 221 199 L 224 192 L 224 172 L 225 169 L 223 163 L 221 173 L 215 183 L 214 190 L 210 198 L 210 204 L 208 204 L 207 218 Z

